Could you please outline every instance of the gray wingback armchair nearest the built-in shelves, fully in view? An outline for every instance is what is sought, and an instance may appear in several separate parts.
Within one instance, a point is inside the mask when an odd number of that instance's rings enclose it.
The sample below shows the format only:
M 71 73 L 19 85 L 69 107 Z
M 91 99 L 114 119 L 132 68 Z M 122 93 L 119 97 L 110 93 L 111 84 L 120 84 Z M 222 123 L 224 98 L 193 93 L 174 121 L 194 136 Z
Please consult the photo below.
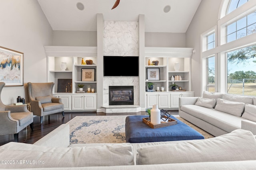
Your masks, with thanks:
M 28 98 L 31 111 L 34 115 L 40 116 L 40 123 L 43 116 L 62 112 L 64 117 L 64 105 L 60 98 L 52 96 L 54 83 L 31 83 L 28 82 Z

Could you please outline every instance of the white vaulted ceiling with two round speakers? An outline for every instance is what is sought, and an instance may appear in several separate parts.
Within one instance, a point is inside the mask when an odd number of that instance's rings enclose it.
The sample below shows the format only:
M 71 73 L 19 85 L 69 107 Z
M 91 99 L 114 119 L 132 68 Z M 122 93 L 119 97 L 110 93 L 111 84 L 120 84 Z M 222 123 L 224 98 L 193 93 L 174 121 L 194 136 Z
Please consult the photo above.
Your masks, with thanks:
M 98 13 L 107 21 L 138 21 L 144 14 L 146 32 L 185 33 L 201 0 L 120 0 L 113 10 L 116 0 L 38 2 L 53 30 L 96 31 Z

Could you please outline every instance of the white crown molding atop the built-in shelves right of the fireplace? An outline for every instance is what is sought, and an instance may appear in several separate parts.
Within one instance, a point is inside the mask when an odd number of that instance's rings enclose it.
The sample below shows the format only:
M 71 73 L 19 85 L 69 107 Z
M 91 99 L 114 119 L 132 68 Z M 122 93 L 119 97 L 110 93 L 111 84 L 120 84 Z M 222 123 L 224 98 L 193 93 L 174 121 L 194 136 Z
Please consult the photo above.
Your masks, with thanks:
M 145 57 L 190 58 L 194 48 L 145 47 Z

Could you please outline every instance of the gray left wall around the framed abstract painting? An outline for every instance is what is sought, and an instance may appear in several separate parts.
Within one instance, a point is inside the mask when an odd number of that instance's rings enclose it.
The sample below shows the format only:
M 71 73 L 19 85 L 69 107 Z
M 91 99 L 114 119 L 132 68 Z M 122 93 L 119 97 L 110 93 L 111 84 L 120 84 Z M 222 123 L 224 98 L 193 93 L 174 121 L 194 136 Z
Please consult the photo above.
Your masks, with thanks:
M 1 0 L 0 46 L 24 53 L 24 86 L 4 87 L 4 104 L 27 97 L 27 82 L 46 82 L 44 45 L 52 45 L 52 28 L 37 0 Z

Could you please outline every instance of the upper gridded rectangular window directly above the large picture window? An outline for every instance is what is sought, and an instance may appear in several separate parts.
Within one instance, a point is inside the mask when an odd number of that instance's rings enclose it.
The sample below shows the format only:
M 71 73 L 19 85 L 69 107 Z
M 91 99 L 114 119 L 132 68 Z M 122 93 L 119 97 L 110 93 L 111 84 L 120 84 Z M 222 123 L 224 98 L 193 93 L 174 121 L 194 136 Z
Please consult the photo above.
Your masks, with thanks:
M 226 26 L 227 43 L 256 32 L 256 12 Z

